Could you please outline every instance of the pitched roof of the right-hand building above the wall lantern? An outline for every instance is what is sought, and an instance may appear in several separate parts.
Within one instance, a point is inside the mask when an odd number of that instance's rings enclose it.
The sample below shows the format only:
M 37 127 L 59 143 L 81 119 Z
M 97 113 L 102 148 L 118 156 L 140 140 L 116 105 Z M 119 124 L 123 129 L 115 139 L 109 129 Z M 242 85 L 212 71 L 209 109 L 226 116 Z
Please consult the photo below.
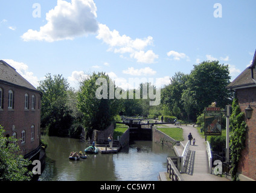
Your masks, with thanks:
M 254 60 L 252 61 L 251 66 L 246 68 L 240 75 L 238 75 L 235 80 L 233 80 L 230 84 L 228 84 L 228 89 L 238 89 L 242 87 L 254 87 L 256 86 L 256 51 L 254 54 Z

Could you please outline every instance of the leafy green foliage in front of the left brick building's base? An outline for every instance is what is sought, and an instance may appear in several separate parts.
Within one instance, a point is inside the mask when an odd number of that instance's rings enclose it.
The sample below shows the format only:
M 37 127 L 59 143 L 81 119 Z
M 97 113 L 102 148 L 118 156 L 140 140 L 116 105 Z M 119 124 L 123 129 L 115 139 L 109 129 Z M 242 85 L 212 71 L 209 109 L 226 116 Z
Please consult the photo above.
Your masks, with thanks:
M 32 172 L 27 166 L 30 161 L 19 155 L 18 139 L 4 137 L 5 130 L 0 125 L 0 181 L 28 181 Z

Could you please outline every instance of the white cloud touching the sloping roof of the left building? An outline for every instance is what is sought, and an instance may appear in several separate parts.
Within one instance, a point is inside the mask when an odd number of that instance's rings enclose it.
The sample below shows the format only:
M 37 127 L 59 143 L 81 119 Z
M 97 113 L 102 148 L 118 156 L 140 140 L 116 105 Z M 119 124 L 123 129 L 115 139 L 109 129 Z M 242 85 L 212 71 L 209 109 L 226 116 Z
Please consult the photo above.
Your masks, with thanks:
M 28 71 L 28 65 L 22 62 L 16 62 L 11 59 L 4 59 L 4 61 L 7 62 L 8 65 L 16 69 L 16 71 L 34 87 L 39 86 L 38 78 L 34 76 L 33 72 Z

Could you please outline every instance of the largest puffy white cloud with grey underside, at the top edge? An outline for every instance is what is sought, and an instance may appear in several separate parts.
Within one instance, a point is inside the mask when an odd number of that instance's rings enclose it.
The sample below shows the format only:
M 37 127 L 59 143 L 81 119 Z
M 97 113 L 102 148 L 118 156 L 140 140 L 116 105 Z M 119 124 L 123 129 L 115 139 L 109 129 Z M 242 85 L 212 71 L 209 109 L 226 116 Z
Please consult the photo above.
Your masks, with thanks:
M 54 42 L 97 33 L 96 11 L 93 0 L 58 0 L 56 7 L 46 13 L 47 24 L 40 27 L 39 31 L 28 30 L 22 39 Z

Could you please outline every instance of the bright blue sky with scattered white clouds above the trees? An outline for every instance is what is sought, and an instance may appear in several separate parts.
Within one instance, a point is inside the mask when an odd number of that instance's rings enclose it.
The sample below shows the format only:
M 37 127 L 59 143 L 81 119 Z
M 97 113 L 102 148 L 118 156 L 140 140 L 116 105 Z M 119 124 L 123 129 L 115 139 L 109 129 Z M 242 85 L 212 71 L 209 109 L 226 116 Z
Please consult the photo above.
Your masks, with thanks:
M 46 74 L 70 86 L 106 72 L 123 89 L 170 83 L 219 60 L 231 81 L 252 63 L 255 0 L 0 1 L 0 59 L 35 87 Z

